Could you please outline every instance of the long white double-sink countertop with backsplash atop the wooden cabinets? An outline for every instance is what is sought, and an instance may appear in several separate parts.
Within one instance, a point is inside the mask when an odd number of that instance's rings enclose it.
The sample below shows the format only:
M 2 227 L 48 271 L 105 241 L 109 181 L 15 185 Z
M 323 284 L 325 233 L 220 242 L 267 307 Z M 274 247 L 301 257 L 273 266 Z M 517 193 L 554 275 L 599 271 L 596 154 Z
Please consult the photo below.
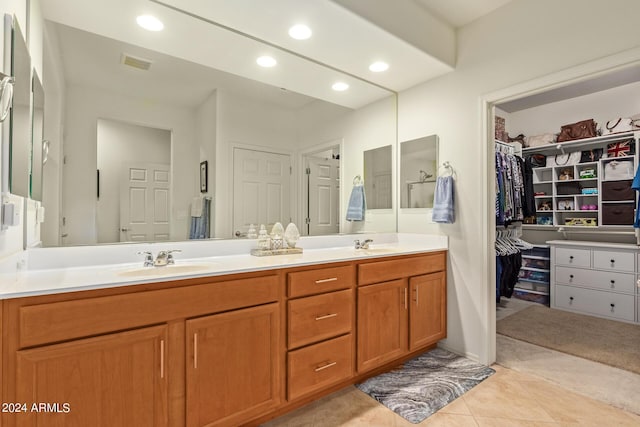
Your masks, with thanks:
M 345 246 L 354 238 L 373 238 L 374 243 L 369 250 Z M 0 274 L 0 299 L 434 252 L 448 248 L 446 236 L 396 233 L 342 235 L 303 238 L 299 245 L 303 247 L 302 254 L 256 257 L 249 254 L 251 242 L 231 242 L 236 241 L 35 249 L 28 254 L 26 269 L 14 274 Z M 183 252 L 176 254 L 175 265 L 166 267 L 145 268 L 141 258 L 136 262 L 121 262 L 119 259 L 131 257 L 131 254 L 136 254 L 134 259 L 138 259 L 138 251 L 152 250 L 156 253 L 158 248 L 179 248 Z M 215 255 L 210 255 L 211 252 Z M 73 255 L 78 257 L 76 264 L 70 260 Z M 96 262 L 96 259 L 101 262 Z

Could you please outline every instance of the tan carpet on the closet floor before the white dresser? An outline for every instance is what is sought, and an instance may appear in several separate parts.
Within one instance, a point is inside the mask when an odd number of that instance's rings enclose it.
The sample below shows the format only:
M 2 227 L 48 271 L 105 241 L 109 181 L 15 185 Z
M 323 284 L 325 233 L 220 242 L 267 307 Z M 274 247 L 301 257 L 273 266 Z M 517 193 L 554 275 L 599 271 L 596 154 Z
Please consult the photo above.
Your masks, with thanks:
M 501 335 L 640 374 L 640 325 L 532 305 L 496 323 Z

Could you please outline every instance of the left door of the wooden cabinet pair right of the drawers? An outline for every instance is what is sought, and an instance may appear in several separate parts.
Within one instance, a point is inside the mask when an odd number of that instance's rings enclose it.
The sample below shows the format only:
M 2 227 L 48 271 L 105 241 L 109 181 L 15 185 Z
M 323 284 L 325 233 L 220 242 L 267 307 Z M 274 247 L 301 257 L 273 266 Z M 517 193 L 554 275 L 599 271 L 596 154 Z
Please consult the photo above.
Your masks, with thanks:
M 358 372 L 407 352 L 407 279 L 358 288 Z

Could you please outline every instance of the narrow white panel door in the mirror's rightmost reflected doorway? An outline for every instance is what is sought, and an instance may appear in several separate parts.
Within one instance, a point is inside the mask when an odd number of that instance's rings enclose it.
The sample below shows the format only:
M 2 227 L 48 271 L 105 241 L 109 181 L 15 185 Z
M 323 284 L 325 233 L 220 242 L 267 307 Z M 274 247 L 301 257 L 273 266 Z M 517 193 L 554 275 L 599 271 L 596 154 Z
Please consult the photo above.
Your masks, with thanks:
M 340 160 L 307 160 L 308 210 L 310 236 L 335 234 L 340 230 Z

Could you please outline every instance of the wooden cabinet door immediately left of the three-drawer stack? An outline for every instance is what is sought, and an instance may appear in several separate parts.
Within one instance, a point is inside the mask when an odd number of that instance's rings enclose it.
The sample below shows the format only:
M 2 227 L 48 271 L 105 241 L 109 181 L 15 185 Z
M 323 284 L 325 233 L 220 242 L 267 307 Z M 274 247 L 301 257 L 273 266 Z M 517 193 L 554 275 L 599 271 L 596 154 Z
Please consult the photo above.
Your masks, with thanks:
M 281 400 L 279 304 L 187 321 L 187 426 L 238 426 Z

